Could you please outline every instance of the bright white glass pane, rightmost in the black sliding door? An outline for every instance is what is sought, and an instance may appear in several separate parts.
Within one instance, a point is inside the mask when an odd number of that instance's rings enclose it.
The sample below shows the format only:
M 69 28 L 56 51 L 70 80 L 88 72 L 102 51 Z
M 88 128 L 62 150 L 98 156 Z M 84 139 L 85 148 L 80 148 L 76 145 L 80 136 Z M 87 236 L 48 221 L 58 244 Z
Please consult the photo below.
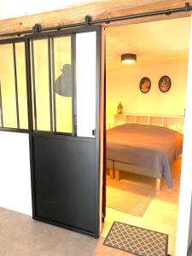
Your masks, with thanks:
M 96 32 L 76 36 L 77 133 L 93 137 L 96 128 Z

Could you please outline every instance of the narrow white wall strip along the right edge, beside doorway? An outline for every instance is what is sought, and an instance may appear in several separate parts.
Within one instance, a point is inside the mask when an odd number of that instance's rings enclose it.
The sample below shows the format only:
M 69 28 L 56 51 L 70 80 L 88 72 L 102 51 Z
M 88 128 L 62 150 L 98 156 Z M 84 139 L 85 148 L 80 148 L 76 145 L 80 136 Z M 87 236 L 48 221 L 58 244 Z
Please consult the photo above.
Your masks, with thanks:
M 192 26 L 191 26 L 192 28 Z M 187 249 L 191 242 L 192 218 L 191 196 L 192 196 L 192 32 L 190 32 L 189 67 L 187 99 L 183 137 L 183 159 L 180 181 L 178 220 L 177 220 L 177 247 L 176 256 L 187 255 Z

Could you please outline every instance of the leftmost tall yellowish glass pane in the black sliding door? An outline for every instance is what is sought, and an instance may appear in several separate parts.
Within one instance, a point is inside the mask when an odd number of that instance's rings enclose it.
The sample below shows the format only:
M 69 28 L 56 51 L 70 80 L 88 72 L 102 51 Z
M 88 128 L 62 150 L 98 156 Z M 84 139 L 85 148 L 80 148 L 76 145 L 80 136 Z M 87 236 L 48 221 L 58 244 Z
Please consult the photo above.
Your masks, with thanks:
M 38 131 L 50 131 L 48 40 L 33 41 L 33 49 L 37 127 Z

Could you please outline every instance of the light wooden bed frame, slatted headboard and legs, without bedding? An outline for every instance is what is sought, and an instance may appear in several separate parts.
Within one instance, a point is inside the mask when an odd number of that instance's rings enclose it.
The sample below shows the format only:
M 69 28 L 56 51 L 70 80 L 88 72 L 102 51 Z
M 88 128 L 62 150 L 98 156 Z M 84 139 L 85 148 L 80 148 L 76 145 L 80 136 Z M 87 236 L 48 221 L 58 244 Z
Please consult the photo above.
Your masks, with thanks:
M 159 126 L 164 126 L 174 131 L 179 131 L 180 133 L 183 133 L 184 117 L 183 116 L 166 116 L 166 115 L 147 115 L 147 114 L 136 114 L 136 113 L 123 113 L 123 114 L 114 115 L 113 126 L 123 125 L 126 123 L 159 125 Z M 114 167 L 115 166 L 114 163 L 115 162 L 117 163 L 117 161 L 115 160 L 111 160 L 111 161 L 113 161 L 113 165 L 111 163 L 107 164 L 110 178 L 115 177 L 116 180 L 119 180 L 119 171 L 131 172 L 131 171 L 125 170 L 125 168 L 121 168 L 119 170 L 116 169 Z M 126 166 L 129 166 L 129 164 L 127 164 Z M 133 173 L 141 174 L 141 172 L 137 172 L 137 171 L 134 171 Z M 154 177 L 154 176 L 150 176 L 150 177 Z M 161 177 L 155 177 L 155 178 L 156 178 L 156 190 L 159 191 Z

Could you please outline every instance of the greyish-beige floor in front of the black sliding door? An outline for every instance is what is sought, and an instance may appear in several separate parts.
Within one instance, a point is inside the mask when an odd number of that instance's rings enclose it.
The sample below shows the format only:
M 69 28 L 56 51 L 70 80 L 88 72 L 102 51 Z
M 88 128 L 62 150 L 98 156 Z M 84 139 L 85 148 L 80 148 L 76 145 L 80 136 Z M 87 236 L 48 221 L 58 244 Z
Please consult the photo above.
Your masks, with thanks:
M 96 240 L 0 208 L 1 256 L 129 255 L 103 246 L 103 241 L 103 237 Z

